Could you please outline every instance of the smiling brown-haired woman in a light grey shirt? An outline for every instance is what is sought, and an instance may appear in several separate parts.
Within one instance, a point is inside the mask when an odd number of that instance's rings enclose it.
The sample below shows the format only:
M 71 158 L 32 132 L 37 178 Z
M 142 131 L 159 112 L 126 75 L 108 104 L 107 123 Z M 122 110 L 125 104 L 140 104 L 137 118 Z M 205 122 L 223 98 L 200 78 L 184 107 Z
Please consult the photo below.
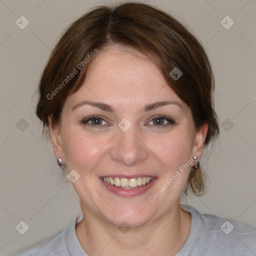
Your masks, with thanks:
M 180 204 L 204 192 L 217 138 L 214 81 L 196 40 L 143 3 L 101 6 L 60 38 L 36 114 L 82 212 L 11 255 L 256 255 L 256 227 Z

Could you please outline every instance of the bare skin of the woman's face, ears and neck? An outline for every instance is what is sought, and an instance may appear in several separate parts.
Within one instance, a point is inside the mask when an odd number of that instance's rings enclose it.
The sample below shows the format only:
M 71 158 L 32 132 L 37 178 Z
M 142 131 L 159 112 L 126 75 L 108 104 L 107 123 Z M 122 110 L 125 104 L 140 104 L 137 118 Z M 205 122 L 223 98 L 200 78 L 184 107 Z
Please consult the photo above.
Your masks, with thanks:
M 80 174 L 72 183 L 84 215 L 76 225 L 77 238 L 88 255 L 175 255 L 191 225 L 190 213 L 179 206 L 190 167 L 154 202 L 148 198 L 189 157 L 202 153 L 207 124 L 195 130 L 189 107 L 156 66 L 135 49 L 108 46 L 88 67 L 81 88 L 67 97 L 60 122 L 51 125 L 49 117 L 56 158 L 61 157 L 69 171 L 75 169 Z M 91 105 L 72 110 L 84 100 L 109 104 L 115 111 Z M 182 107 L 168 104 L 143 111 L 145 104 L 166 100 L 177 101 Z M 101 126 L 81 122 L 91 115 L 103 118 Z M 168 121 L 161 119 L 156 125 L 151 120 L 154 115 L 165 115 L 175 123 L 167 125 Z M 118 127 L 123 118 L 131 123 L 125 132 Z M 157 179 L 145 193 L 121 197 L 108 191 L 99 179 L 117 173 L 147 174 Z M 127 233 L 118 228 L 123 221 L 131 227 Z

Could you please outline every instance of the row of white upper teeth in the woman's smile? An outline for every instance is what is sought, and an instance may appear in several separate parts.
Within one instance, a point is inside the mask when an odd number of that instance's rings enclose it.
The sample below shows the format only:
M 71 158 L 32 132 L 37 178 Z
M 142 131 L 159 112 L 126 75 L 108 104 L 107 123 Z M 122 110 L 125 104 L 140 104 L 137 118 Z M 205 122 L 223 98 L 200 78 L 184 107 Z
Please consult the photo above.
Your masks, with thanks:
M 122 187 L 136 187 L 148 184 L 153 178 L 152 177 L 138 177 L 138 178 L 112 178 L 112 177 L 103 177 L 104 182 Z

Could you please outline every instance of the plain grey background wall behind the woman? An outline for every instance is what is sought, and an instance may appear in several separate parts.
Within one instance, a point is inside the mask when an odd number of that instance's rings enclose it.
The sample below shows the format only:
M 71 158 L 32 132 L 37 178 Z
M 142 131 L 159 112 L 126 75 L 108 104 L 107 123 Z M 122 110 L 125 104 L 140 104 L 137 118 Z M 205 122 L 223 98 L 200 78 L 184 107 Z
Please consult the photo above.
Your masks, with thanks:
M 145 2 L 164 9 L 192 30 L 204 45 L 215 75 L 220 143 L 201 162 L 210 188 L 204 196 L 185 203 L 201 213 L 256 225 L 256 2 Z M 34 113 L 36 86 L 62 30 L 102 3 L 0 0 L 0 255 L 56 233 L 80 211 L 71 183 L 59 178 L 51 144 L 41 137 Z M 29 21 L 24 29 L 15 23 L 21 15 Z M 229 29 L 220 23 L 226 15 L 234 21 Z M 15 229 L 21 220 L 29 226 L 23 235 Z

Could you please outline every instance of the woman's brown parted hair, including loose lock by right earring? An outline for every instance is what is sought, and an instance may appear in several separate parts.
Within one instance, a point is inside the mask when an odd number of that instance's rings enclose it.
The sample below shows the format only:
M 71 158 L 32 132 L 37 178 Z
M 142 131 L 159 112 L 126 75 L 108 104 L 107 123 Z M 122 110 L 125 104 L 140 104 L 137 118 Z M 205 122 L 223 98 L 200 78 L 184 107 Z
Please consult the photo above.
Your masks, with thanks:
M 39 82 L 36 115 L 43 132 L 49 125 L 48 116 L 57 124 L 65 99 L 80 88 L 90 64 L 85 63 L 86 57 L 111 44 L 133 47 L 152 59 L 171 89 L 191 109 L 195 128 L 208 124 L 205 146 L 219 135 L 212 98 L 214 79 L 203 47 L 172 16 L 139 2 L 96 7 L 63 33 Z M 182 71 L 177 80 L 169 74 L 174 67 Z M 72 78 L 68 76 L 71 73 Z M 189 187 L 195 195 L 203 194 L 204 174 L 199 167 L 191 168 L 185 195 Z

